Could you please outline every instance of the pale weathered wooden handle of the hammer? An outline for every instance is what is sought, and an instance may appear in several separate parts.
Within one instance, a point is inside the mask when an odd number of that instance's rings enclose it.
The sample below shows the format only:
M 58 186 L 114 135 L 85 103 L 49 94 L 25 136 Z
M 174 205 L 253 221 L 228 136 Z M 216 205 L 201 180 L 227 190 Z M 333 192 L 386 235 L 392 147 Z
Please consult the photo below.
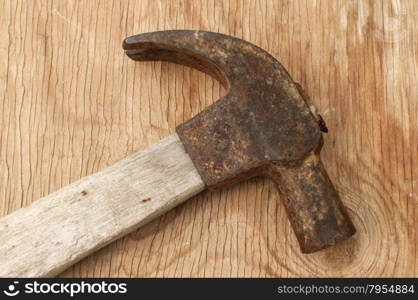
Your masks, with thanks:
M 0 219 L 0 276 L 54 276 L 203 189 L 173 134 Z

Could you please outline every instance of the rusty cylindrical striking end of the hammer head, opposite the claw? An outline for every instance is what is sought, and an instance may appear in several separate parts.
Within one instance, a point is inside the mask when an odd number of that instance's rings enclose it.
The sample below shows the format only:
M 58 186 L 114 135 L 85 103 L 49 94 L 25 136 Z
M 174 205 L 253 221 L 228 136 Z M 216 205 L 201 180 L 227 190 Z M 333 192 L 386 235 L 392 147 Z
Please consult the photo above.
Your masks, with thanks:
M 273 166 L 268 175 L 285 198 L 286 212 L 303 253 L 333 246 L 355 233 L 317 154 L 296 167 Z

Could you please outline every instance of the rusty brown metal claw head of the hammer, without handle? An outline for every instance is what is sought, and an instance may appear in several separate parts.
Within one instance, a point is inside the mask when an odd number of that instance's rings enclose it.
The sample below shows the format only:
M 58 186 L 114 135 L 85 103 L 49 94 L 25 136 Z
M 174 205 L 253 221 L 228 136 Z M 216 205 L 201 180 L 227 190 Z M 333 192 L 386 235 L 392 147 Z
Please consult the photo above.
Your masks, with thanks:
M 322 133 L 308 99 L 274 57 L 241 39 L 191 30 L 140 34 L 127 38 L 123 47 L 134 60 L 194 67 L 228 89 L 177 127 L 207 187 L 271 177 L 305 253 L 354 234 L 319 158 Z

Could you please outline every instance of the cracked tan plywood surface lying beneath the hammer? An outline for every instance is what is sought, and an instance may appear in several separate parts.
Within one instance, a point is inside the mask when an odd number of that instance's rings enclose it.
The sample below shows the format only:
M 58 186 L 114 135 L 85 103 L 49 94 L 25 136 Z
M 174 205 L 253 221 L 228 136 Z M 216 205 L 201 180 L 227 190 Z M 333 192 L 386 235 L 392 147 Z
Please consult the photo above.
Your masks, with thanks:
M 205 192 L 62 276 L 417 276 L 418 1 L 0 1 L 0 215 L 174 132 L 226 91 L 125 57 L 126 36 L 231 34 L 317 104 L 323 161 L 358 229 L 302 255 L 274 185 Z

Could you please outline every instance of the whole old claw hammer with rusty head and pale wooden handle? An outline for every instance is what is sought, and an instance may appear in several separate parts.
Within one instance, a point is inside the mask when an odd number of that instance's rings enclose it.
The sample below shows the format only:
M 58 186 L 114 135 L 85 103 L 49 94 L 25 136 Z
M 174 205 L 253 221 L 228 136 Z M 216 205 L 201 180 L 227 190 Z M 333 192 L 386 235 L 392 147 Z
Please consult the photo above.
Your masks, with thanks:
M 57 275 L 204 189 L 253 176 L 275 182 L 303 253 L 355 233 L 319 156 L 324 121 L 274 57 L 191 30 L 131 36 L 123 48 L 206 72 L 228 92 L 177 133 L 1 218 L 0 276 Z

